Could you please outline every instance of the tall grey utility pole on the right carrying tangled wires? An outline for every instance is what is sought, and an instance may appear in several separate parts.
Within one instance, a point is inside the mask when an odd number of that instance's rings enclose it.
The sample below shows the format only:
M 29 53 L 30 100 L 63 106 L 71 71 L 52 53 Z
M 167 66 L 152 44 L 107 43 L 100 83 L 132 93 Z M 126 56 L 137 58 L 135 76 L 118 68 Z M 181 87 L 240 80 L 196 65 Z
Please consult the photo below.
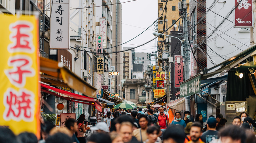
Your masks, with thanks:
M 183 31 L 186 32 L 187 31 L 187 2 L 186 0 L 182 0 L 181 2 L 181 10 L 183 11 L 183 13 L 181 14 L 183 16 Z M 183 56 L 183 59 L 184 59 L 184 81 L 188 80 L 189 79 L 189 75 L 190 75 L 190 71 L 189 71 L 189 42 L 188 42 L 188 32 L 184 33 L 184 43 L 183 43 L 183 46 L 184 46 L 184 56 Z M 189 111 L 189 96 L 186 97 L 185 99 L 185 110 L 186 111 Z

